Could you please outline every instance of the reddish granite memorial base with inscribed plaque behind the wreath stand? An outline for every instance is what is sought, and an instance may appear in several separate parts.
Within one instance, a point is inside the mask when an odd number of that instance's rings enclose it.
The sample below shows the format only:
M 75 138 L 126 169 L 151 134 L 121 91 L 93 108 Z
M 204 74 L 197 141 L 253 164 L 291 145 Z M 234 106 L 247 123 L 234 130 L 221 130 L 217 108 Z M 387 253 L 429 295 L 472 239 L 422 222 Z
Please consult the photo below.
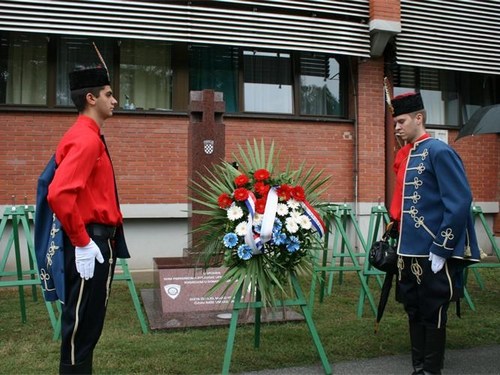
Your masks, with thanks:
M 155 288 L 142 289 L 141 296 L 152 330 L 182 329 L 228 325 L 233 312 L 229 288 L 208 295 L 208 290 L 220 280 L 225 267 L 204 269 L 189 257 L 153 258 Z M 247 296 L 248 298 L 248 296 Z M 262 322 L 303 320 L 303 316 L 288 308 L 269 308 L 262 311 Z M 239 314 L 239 323 L 255 321 L 253 309 Z

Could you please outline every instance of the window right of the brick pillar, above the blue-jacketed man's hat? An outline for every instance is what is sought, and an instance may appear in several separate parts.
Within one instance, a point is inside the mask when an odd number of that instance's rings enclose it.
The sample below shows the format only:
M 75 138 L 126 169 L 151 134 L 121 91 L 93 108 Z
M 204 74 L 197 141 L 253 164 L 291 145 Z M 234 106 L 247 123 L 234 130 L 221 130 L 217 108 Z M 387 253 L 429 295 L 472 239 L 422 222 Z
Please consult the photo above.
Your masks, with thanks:
M 493 75 L 397 66 L 394 95 L 414 90 L 430 125 L 459 127 L 479 108 L 500 102 L 500 79 Z

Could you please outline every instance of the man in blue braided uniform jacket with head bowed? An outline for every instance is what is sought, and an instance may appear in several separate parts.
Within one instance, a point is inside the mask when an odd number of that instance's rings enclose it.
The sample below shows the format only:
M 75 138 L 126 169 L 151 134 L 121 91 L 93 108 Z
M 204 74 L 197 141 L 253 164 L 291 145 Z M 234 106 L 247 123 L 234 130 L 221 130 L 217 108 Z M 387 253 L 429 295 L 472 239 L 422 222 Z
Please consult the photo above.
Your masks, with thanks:
M 420 94 L 391 105 L 396 136 L 406 142 L 390 208 L 399 224 L 398 299 L 408 314 L 413 374 L 441 374 L 448 306 L 461 297 L 464 267 L 480 259 L 472 194 L 458 154 L 426 132 Z

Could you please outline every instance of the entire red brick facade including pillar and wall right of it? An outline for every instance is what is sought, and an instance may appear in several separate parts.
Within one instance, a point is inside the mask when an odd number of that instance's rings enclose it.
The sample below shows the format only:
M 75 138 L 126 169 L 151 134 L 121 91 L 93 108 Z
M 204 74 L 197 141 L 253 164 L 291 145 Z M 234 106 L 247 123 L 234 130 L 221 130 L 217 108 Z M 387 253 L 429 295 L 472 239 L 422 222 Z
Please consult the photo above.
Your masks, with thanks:
M 282 165 L 289 160 L 293 165 L 306 161 L 308 166 L 315 165 L 332 176 L 325 200 L 385 201 L 386 174 L 392 173 L 385 167 L 386 153 L 390 159 L 393 156 L 385 146 L 392 137 L 392 124 L 384 122 L 383 61 L 362 61 L 357 70 L 358 87 L 352 90 L 351 104 L 351 117 L 357 112 L 357 123 L 228 116 L 224 119 L 226 158 L 231 160 L 237 145 L 244 145 L 246 140 L 264 138 L 268 143 L 274 140 L 282 150 Z M 0 112 L 0 204 L 10 204 L 12 195 L 17 203 L 23 203 L 24 196 L 28 203 L 34 203 L 37 177 L 75 116 L 67 112 Z M 107 121 L 104 133 L 115 164 L 122 203 L 187 202 L 188 121 L 187 114 L 138 113 L 117 113 Z M 455 137 L 456 131 L 450 131 L 449 143 L 465 162 L 475 200 L 498 201 L 498 136 L 465 137 L 456 143 Z

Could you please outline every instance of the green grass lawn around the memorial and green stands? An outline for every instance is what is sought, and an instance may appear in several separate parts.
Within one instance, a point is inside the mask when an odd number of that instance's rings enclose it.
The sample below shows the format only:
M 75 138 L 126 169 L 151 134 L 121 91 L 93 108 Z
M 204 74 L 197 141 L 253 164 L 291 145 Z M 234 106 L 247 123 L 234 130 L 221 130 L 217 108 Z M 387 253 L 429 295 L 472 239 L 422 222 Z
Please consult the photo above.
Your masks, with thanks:
M 452 349 L 499 344 L 500 271 L 481 269 L 484 289 L 473 277 L 469 292 L 476 306 L 472 311 L 462 300 L 462 318 L 449 310 L 448 343 Z M 338 280 L 338 278 L 337 278 Z M 375 280 L 370 281 L 378 301 Z M 137 290 L 151 288 L 137 284 Z M 307 283 L 302 285 L 309 293 Z M 365 303 L 362 318 L 356 316 L 360 283 L 352 272 L 342 284 L 316 303 L 313 318 L 330 362 L 409 353 L 406 315 L 391 299 L 378 334 L 374 316 Z M 0 289 L 0 374 L 55 374 L 59 342 L 43 302 L 34 302 L 26 288 L 27 322 L 21 322 L 17 289 Z M 316 290 L 316 297 L 318 291 Z M 304 322 L 263 324 L 260 348 L 253 343 L 253 325 L 239 326 L 231 372 L 320 365 L 320 359 Z M 217 374 L 222 370 L 227 327 L 162 330 L 143 335 L 126 283 L 115 282 L 101 340 L 94 352 L 98 374 Z M 335 366 L 335 365 L 333 365 Z M 335 368 L 333 368 L 335 372 Z

